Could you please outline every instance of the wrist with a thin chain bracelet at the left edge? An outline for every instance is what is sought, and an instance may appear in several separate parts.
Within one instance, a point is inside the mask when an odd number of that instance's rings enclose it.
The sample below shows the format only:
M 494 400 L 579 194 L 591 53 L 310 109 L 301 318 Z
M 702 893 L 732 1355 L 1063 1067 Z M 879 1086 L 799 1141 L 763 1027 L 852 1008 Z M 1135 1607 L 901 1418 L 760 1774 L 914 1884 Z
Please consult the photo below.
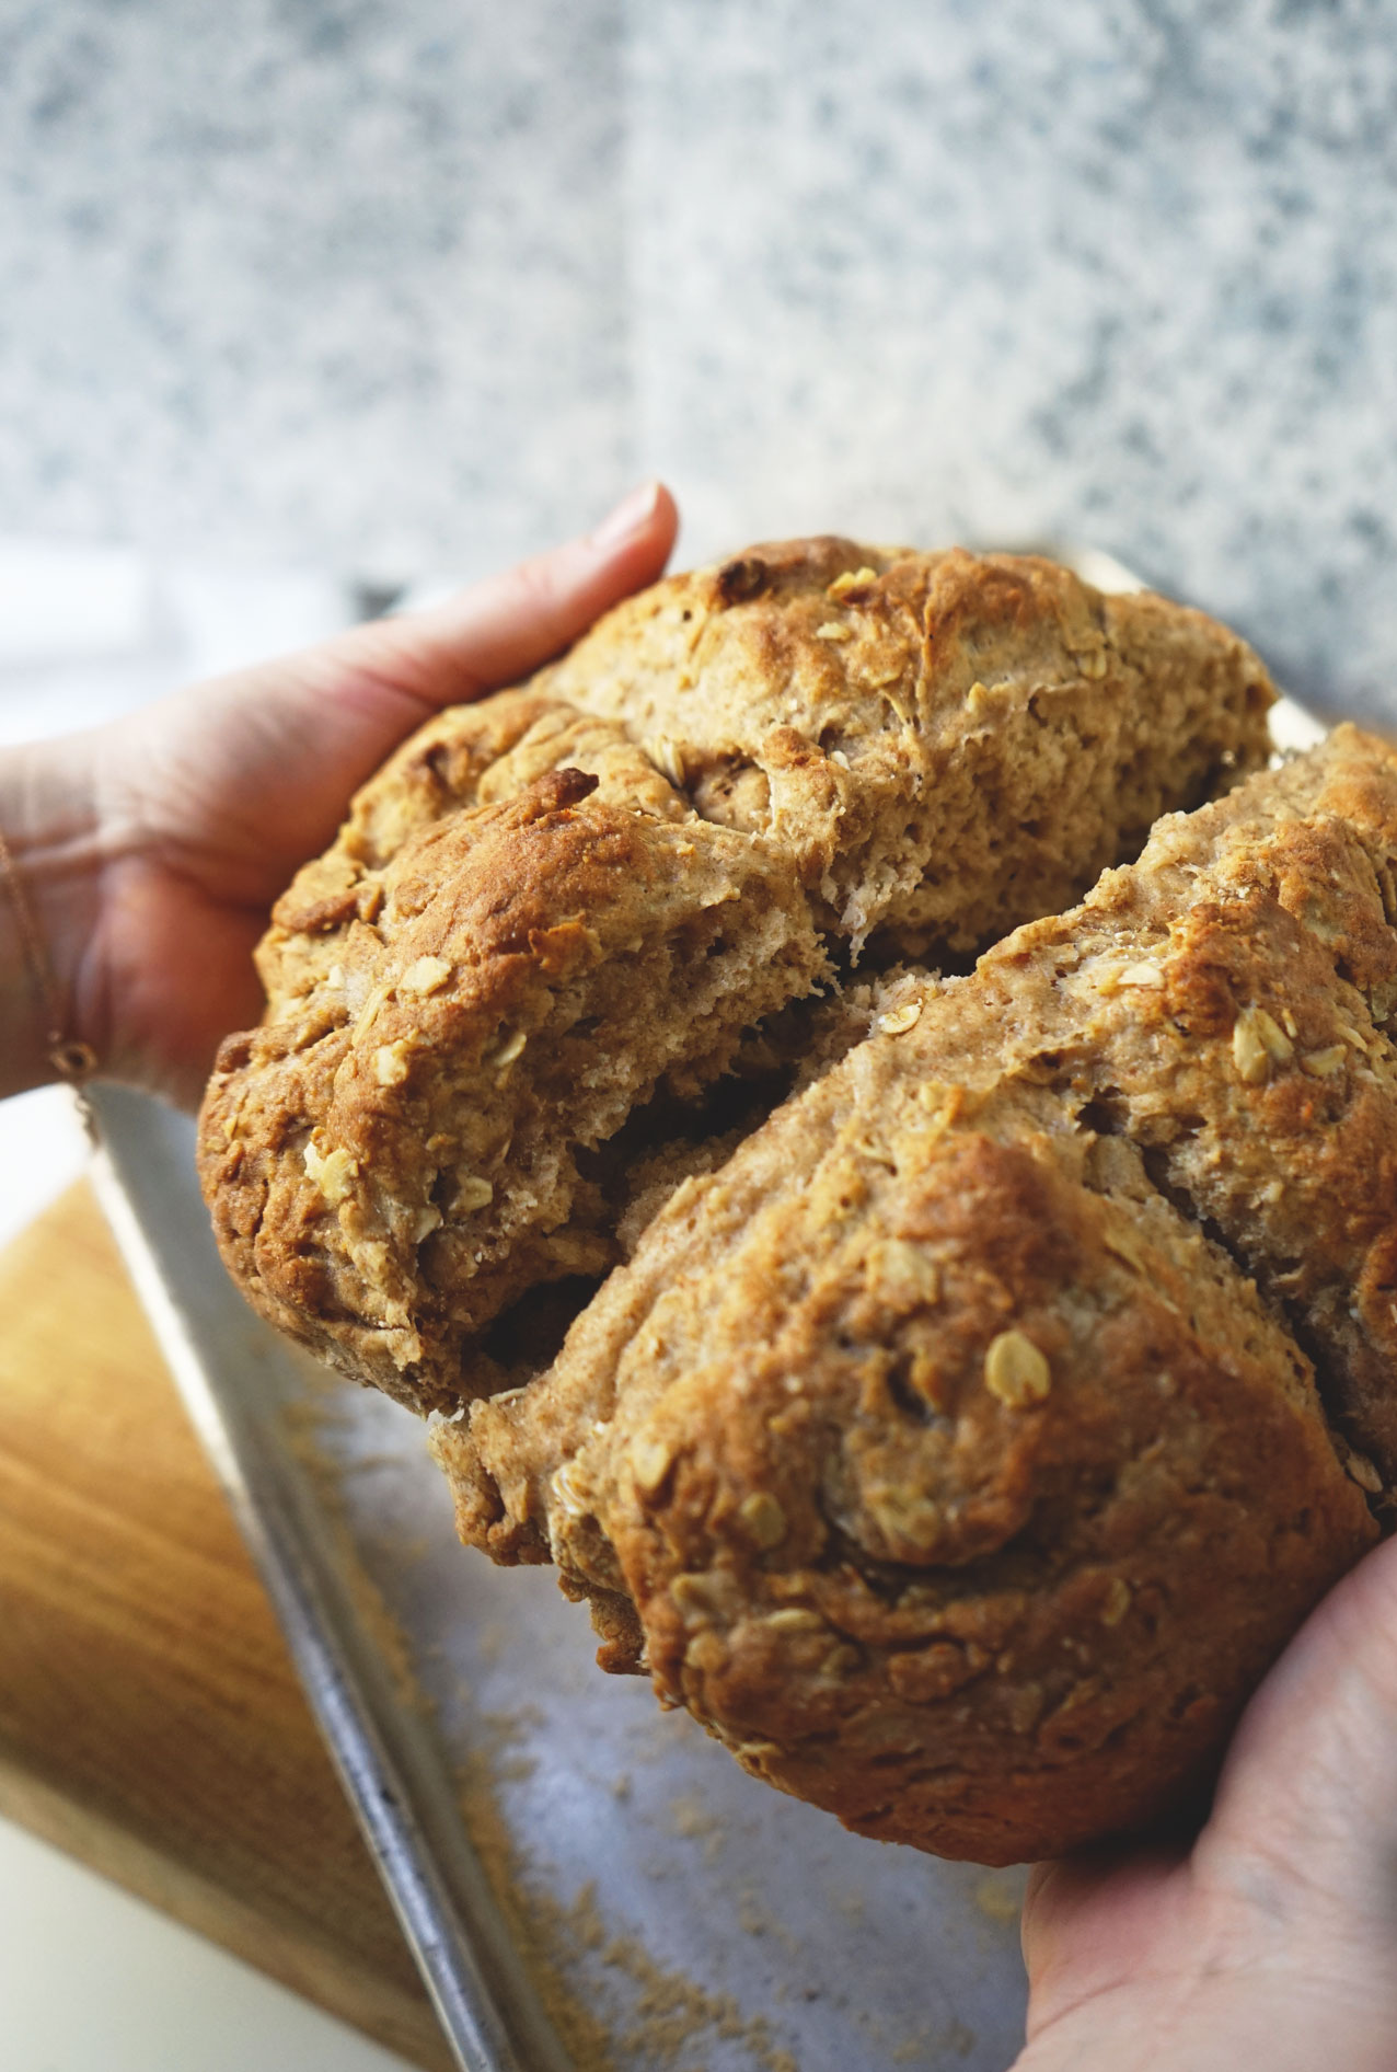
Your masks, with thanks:
M 93 945 L 102 835 L 87 736 L 0 750 L 0 1094 L 66 1071 L 62 1048 L 102 1057 Z

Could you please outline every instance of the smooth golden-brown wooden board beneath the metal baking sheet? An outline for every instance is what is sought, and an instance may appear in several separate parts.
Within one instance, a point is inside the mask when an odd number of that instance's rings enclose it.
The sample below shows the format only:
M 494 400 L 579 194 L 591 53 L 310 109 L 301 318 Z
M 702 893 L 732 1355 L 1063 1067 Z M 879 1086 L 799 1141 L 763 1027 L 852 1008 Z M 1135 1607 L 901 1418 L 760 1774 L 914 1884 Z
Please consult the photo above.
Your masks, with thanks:
M 87 1183 L 0 1254 L 0 1813 L 450 2053 Z

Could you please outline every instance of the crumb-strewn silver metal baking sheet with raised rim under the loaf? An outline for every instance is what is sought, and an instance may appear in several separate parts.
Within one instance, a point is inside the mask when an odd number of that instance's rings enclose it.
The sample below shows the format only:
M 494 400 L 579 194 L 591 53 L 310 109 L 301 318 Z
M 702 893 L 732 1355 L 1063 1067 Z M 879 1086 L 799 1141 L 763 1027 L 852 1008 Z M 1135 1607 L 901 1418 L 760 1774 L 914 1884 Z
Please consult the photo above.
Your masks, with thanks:
M 454 1537 L 423 1428 L 228 1280 L 193 1125 L 95 1090 L 97 1185 L 468 2072 L 1003 2072 L 1020 1871 L 844 1834 L 649 1685 L 551 1571 Z

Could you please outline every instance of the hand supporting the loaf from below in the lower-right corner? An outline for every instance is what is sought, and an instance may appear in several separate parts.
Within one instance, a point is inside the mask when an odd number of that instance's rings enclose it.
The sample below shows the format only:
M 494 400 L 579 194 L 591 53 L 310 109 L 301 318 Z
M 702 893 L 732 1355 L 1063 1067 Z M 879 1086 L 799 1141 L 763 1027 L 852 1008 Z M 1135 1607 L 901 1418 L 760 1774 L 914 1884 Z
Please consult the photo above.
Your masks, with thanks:
M 1038 1865 L 1014 2072 L 1397 2068 L 1397 1542 L 1248 1705 L 1186 1850 Z

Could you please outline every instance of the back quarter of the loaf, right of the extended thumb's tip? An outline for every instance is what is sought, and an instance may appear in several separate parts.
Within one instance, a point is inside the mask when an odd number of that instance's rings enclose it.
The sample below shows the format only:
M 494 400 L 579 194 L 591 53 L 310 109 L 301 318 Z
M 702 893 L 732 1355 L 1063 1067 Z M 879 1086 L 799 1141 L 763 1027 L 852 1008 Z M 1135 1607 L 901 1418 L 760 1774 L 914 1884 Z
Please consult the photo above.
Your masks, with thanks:
M 752 547 L 611 611 L 539 688 L 622 719 L 707 818 L 779 837 L 823 924 L 964 953 L 1086 891 L 1266 754 L 1256 655 L 1036 555 Z

